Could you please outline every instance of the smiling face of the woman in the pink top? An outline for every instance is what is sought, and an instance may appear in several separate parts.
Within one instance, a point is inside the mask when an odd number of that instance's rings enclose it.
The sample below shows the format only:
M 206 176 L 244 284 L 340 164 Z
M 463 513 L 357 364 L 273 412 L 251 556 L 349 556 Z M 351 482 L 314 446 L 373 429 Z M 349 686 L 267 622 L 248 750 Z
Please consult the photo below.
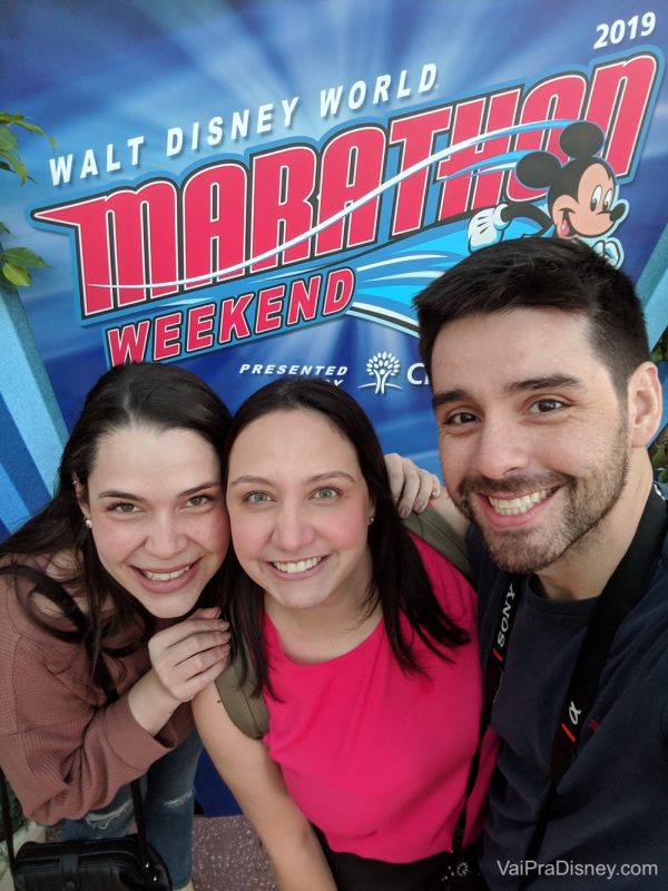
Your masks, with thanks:
M 269 412 L 238 434 L 228 480 L 236 555 L 274 604 L 356 613 L 371 580 L 373 509 L 338 429 L 315 411 Z

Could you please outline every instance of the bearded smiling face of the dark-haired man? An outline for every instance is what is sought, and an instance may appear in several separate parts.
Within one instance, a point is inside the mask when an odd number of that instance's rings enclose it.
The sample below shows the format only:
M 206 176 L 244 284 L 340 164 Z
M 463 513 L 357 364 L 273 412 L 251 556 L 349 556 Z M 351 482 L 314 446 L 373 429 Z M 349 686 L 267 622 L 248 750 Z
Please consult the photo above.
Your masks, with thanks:
M 539 571 L 583 547 L 625 487 L 628 408 L 588 325 L 511 310 L 453 322 L 434 344 L 445 483 L 509 571 Z

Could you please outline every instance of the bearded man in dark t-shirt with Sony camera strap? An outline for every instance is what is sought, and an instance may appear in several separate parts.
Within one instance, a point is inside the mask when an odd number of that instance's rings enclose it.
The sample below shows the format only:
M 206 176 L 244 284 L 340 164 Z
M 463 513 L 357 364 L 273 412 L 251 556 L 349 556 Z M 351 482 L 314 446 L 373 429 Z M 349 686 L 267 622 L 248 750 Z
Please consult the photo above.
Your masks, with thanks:
M 633 287 L 582 244 L 522 238 L 472 254 L 416 307 L 490 704 L 497 693 L 484 878 L 493 891 L 668 888 L 668 548 L 647 453 L 661 392 Z M 648 522 L 633 584 L 610 581 Z M 583 708 L 570 685 L 606 586 L 642 596 Z

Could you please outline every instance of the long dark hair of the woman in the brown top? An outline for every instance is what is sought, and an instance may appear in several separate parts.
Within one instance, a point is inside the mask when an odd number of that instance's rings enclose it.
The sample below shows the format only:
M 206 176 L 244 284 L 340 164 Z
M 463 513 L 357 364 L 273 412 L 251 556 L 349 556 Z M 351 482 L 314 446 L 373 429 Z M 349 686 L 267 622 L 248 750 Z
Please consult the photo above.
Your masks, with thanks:
M 59 616 L 67 617 L 73 628 L 62 623 L 48 623 L 43 610 L 21 605 L 40 627 L 55 637 L 82 642 L 92 664 L 102 649 L 124 655 L 139 647 L 154 631 L 154 618 L 101 565 L 94 538 L 84 525 L 73 480 L 80 484 L 86 500 L 88 477 L 96 461 L 100 440 L 124 428 L 144 424 L 158 431 L 190 430 L 205 439 L 215 450 L 223 468 L 223 444 L 230 414 L 216 393 L 197 375 L 177 365 L 138 362 L 118 365 L 104 374 L 88 393 L 81 414 L 65 446 L 58 470 L 58 484 L 51 501 L 0 546 L 2 575 L 20 575 L 32 585 L 31 593 L 47 597 Z M 61 551 L 75 558 L 69 578 L 60 584 L 33 560 L 26 557 L 48 557 Z M 30 565 L 28 565 L 30 564 Z M 214 601 L 220 570 L 210 579 L 199 599 L 199 606 Z M 86 598 L 86 615 L 79 610 L 71 594 Z M 108 599 L 114 610 L 102 607 Z M 39 613 L 39 614 L 38 614 Z M 132 642 L 124 649 L 104 647 L 105 638 L 119 633 Z

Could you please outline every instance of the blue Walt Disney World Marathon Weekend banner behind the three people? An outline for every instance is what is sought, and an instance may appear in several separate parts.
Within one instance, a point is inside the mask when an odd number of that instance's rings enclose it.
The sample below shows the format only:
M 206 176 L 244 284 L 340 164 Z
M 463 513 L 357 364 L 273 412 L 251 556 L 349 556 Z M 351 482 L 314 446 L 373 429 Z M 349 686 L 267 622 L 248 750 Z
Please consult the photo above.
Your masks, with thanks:
M 278 375 L 327 378 L 385 449 L 436 470 L 411 302 L 501 238 L 589 242 L 640 283 L 658 339 L 667 18 L 628 0 L 6 0 L 2 102 L 57 147 L 22 137 L 36 182 L 2 174 L 6 246 L 49 263 L 0 337 L 2 523 L 46 497 L 65 425 L 128 359 L 183 363 L 230 409 Z

